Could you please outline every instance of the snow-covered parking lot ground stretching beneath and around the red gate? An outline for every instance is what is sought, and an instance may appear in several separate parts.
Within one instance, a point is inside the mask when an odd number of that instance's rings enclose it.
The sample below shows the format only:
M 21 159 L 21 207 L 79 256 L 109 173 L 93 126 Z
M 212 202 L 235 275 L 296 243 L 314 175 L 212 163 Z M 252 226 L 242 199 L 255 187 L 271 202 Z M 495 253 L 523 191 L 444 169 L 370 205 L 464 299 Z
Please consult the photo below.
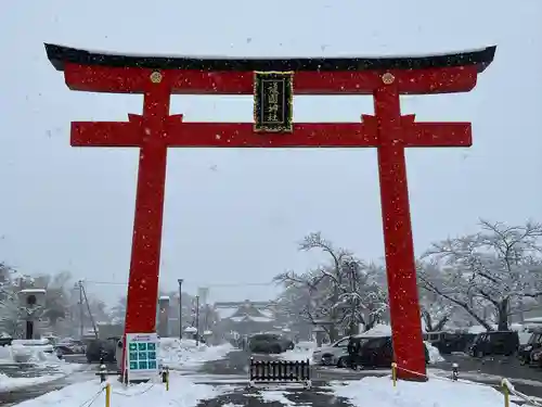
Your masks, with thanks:
M 178 406 L 330 406 L 349 407 L 362 405 L 363 400 L 378 400 L 378 406 L 402 407 L 418 404 L 421 392 L 428 393 L 429 399 L 439 407 L 448 405 L 439 399 L 439 394 L 462 387 L 463 397 L 479 397 L 478 406 L 490 406 L 501 399 L 496 390 L 503 377 L 515 389 L 528 396 L 542 398 L 542 372 L 520 366 L 514 358 L 474 359 L 465 354 L 431 355 L 434 361 L 428 369 L 429 383 L 399 383 L 397 389 L 390 383 L 390 370 L 351 370 L 336 367 L 312 366 L 313 386 L 306 391 L 300 386 L 274 385 L 247 390 L 248 360 L 283 359 L 306 360 L 311 358 L 315 346 L 300 343 L 293 351 L 281 355 L 251 355 L 233 348 L 230 344 L 220 346 L 196 345 L 194 341 L 163 339 L 159 355 L 165 366 L 171 370 L 170 391 L 166 392 L 159 378 L 156 382 L 121 386 L 115 379 L 114 406 L 128 403 L 133 406 L 133 397 L 139 403 L 153 399 L 159 405 Z M 4 349 L 7 355 L 8 349 Z M 37 349 L 35 349 L 37 352 Z M 104 395 L 95 376 L 96 365 L 66 363 L 51 355 L 37 352 L 28 363 L 16 364 L 4 358 L 0 364 L 0 405 L 38 407 L 43 404 L 60 404 L 72 407 L 74 403 L 85 403 L 96 397 L 94 405 L 104 404 Z M 460 379 L 464 383 L 451 382 L 452 364 L 460 366 Z M 100 393 L 100 395 L 98 395 Z M 88 399 L 86 399 L 87 397 Z M 149 398 L 151 397 L 151 398 Z M 513 398 L 514 399 L 514 398 Z M 516 397 L 517 399 L 517 397 Z M 406 404 L 399 404 L 401 403 Z M 382 404 L 387 403 L 387 404 Z M 408 404 L 411 403 L 411 404 Z M 425 403 L 425 402 L 424 402 Z M 154 405 L 158 405 L 154 403 Z M 427 404 L 427 406 L 434 406 Z

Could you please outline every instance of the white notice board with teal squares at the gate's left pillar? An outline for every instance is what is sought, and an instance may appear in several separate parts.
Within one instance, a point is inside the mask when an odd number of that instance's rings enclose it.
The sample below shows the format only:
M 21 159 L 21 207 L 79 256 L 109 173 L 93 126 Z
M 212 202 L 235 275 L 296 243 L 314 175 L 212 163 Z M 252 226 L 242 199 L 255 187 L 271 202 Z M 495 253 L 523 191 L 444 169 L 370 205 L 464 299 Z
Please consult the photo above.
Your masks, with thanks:
M 158 376 L 158 336 L 156 333 L 126 334 L 128 380 L 146 381 Z

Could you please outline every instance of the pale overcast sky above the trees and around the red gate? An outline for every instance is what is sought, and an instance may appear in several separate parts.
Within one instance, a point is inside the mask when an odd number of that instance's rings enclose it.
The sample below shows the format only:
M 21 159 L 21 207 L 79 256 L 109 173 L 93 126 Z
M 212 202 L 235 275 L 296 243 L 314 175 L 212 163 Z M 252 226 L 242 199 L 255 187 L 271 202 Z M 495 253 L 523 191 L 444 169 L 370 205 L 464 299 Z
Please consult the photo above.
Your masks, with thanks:
M 267 4 L 267 5 L 263 5 Z M 272 5 L 270 5 L 272 4 Z M 138 53 L 336 56 L 498 44 L 472 93 L 405 98 L 420 120 L 472 120 L 472 149 L 408 152 L 416 252 L 477 218 L 541 218 L 540 0 L 3 0 L 0 13 L 0 259 L 68 269 L 107 301 L 124 293 L 138 152 L 74 149 L 70 120 L 125 120 L 139 96 L 70 92 L 43 42 Z M 357 122 L 371 98 L 297 98 L 295 118 Z M 249 122 L 245 97 L 175 97 L 186 120 Z M 384 254 L 375 150 L 169 150 L 163 288 L 269 281 L 318 260 L 321 230 L 363 258 Z M 274 295 L 211 288 L 214 300 Z

